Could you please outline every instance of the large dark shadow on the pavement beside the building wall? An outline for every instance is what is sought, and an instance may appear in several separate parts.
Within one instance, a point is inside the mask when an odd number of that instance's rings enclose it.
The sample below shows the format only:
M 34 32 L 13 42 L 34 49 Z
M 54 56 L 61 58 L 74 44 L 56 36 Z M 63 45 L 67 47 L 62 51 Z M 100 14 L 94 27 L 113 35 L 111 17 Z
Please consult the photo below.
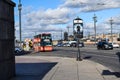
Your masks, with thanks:
M 12 80 L 42 80 L 56 64 L 57 62 L 16 63 L 16 77 Z

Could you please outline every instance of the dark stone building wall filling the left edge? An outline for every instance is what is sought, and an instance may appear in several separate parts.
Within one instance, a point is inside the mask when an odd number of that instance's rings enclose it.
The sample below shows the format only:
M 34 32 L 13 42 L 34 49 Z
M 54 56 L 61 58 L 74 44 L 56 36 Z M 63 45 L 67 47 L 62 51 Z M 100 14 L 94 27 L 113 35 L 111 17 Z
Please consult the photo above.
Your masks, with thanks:
M 11 0 L 0 0 L 0 80 L 15 76 L 14 6 Z

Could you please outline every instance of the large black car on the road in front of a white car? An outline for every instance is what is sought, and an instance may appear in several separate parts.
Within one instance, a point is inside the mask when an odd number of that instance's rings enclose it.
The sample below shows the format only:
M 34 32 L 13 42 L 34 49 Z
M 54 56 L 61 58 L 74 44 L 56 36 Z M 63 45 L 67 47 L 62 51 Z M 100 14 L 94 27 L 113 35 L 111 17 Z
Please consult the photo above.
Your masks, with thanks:
M 97 43 L 97 49 L 113 49 L 113 46 L 105 41 L 100 41 Z

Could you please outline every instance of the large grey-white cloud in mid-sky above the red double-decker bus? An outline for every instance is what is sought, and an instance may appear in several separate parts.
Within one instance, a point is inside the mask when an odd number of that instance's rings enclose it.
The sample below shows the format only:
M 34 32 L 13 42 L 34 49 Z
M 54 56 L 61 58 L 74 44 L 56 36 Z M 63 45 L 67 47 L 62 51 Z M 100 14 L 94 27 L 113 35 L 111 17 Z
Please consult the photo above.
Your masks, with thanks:
M 57 8 L 48 10 L 39 10 L 28 13 L 25 15 L 27 19 L 27 24 L 40 24 L 40 25 L 50 25 L 50 24 L 65 24 L 69 22 L 70 10 L 67 8 Z

